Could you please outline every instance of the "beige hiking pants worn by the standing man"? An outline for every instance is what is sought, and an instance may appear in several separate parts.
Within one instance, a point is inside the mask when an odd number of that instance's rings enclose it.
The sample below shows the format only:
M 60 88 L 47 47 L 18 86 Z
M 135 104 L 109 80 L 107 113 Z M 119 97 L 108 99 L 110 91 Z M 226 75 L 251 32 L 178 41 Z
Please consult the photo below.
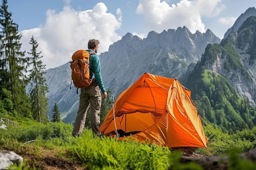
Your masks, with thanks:
M 89 86 L 81 89 L 79 96 L 79 109 L 77 111 L 76 121 L 74 124 L 73 136 L 80 136 L 85 126 L 87 111 L 91 108 L 91 126 L 94 136 L 101 136 L 99 132 L 100 110 L 101 110 L 101 90 L 99 86 Z

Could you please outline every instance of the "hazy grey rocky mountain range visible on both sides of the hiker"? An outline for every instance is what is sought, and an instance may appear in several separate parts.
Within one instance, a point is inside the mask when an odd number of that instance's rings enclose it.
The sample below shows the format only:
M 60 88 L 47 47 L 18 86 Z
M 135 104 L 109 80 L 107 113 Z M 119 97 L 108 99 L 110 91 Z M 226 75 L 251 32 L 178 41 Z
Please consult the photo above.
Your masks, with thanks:
M 112 44 L 108 52 L 99 56 L 105 88 L 110 89 L 116 99 L 145 72 L 179 79 L 190 64 L 200 60 L 209 43 L 220 43 L 211 30 L 192 34 L 185 26 L 162 33 L 151 31 L 144 39 L 127 33 Z M 45 72 L 49 88 L 46 95 L 49 99 L 49 117 L 52 117 L 54 103 L 58 105 L 62 117 L 73 109 L 77 110 L 79 95 L 76 95 L 73 85 L 70 89 L 69 62 Z

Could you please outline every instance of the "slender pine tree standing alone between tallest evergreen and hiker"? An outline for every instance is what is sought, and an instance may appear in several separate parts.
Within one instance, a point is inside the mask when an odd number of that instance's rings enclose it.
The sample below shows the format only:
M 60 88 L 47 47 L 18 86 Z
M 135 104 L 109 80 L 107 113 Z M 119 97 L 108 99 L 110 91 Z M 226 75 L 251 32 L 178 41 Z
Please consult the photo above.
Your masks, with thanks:
M 34 40 L 34 37 L 30 39 L 29 44 L 32 45 L 31 53 L 33 57 L 30 58 L 28 62 L 28 66 L 32 66 L 31 70 L 29 70 L 29 82 L 31 87 L 29 89 L 30 99 L 31 99 L 31 111 L 33 114 L 33 118 L 38 120 L 39 123 L 47 123 L 48 122 L 48 105 L 47 105 L 47 97 L 45 96 L 48 91 L 47 84 L 45 84 L 46 79 L 43 77 L 45 72 L 45 65 L 40 60 L 43 56 L 39 56 L 40 53 L 36 52 L 38 47 L 38 43 Z

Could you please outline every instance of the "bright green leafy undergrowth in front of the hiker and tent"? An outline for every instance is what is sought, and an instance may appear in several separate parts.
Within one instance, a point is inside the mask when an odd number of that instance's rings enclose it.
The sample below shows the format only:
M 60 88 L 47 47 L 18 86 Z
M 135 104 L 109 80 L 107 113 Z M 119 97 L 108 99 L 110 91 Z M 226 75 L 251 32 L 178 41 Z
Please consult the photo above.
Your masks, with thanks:
M 77 147 L 79 146 L 79 147 Z M 113 138 L 79 138 L 69 148 L 90 169 L 158 169 L 166 170 L 170 164 L 168 148 L 135 141 L 118 141 Z

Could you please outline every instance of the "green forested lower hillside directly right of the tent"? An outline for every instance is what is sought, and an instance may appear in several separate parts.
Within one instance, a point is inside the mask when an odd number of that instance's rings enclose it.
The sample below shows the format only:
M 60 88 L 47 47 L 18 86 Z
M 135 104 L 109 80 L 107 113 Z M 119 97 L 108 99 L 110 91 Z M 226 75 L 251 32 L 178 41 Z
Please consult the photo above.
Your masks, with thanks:
M 256 108 L 221 75 L 200 67 L 184 85 L 192 91 L 191 98 L 202 118 L 222 132 L 232 134 L 256 125 Z

